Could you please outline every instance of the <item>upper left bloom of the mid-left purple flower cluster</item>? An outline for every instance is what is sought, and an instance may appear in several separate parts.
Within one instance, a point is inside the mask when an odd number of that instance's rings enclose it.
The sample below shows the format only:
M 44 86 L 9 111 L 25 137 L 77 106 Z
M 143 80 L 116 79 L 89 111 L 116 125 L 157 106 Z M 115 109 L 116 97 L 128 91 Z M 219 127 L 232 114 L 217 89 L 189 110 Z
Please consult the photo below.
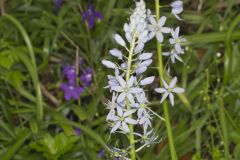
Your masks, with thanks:
M 70 84 L 75 84 L 77 73 L 75 66 L 64 66 L 63 67 L 63 78 L 67 78 Z

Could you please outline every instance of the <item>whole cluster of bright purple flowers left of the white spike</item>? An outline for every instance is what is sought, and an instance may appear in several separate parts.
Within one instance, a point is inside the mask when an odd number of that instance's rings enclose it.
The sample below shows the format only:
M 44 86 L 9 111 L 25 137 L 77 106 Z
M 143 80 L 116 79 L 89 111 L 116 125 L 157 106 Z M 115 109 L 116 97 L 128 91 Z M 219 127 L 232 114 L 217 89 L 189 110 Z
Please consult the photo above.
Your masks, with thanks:
M 75 66 L 64 66 L 62 76 L 67 79 L 67 83 L 62 83 L 61 85 L 65 100 L 70 100 L 71 98 L 78 99 L 92 81 L 92 69 L 88 67 L 86 70 L 82 70 L 80 77 L 82 86 L 77 84 L 78 75 Z

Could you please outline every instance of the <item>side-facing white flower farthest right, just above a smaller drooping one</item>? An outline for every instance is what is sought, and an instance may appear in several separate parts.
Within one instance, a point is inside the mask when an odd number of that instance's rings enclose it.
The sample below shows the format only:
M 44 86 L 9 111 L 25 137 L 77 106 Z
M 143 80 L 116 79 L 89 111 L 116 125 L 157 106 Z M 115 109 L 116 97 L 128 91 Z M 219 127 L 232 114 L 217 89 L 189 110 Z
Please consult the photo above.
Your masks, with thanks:
M 175 31 L 174 30 L 171 31 L 172 38 L 169 39 L 169 42 L 170 44 L 174 45 L 175 50 L 178 53 L 183 53 L 184 50 L 182 49 L 180 43 L 185 42 L 186 39 L 179 37 L 179 30 L 180 27 L 177 27 Z

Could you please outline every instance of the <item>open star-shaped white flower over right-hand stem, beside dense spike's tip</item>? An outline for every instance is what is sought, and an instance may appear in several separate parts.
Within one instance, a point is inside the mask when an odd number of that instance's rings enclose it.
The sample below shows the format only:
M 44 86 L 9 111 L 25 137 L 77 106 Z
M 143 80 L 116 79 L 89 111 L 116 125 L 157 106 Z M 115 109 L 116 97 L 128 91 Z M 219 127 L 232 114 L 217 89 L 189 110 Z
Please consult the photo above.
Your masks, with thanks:
M 148 29 L 150 31 L 149 33 L 149 40 L 152 39 L 155 35 L 157 40 L 162 43 L 163 42 L 163 34 L 162 33 L 170 33 L 171 29 L 168 27 L 163 27 L 166 22 L 166 17 L 162 16 L 158 22 L 156 22 L 156 19 L 151 16 L 149 18 L 150 24 L 148 26 Z

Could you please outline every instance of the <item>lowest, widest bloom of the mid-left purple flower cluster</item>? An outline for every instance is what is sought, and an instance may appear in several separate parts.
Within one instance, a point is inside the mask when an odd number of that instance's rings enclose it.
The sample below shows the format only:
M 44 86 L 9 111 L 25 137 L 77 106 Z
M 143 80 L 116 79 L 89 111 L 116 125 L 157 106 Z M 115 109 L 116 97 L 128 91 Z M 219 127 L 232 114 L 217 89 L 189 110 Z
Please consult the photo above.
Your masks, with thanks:
M 65 100 L 70 100 L 71 98 L 78 99 L 80 94 L 84 92 L 83 87 L 78 87 L 74 84 L 63 83 L 61 89 L 64 91 Z

